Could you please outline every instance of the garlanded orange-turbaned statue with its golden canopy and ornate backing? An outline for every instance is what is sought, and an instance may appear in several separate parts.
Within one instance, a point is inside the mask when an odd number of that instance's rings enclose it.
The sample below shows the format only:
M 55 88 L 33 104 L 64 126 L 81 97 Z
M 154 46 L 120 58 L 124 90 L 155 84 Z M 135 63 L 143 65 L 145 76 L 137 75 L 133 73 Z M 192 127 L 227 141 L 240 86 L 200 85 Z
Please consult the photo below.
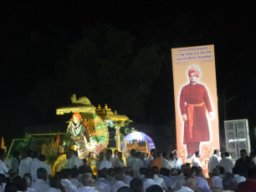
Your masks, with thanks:
M 67 132 L 74 139 L 79 157 L 83 159 L 88 157 L 89 152 L 91 155 L 99 154 L 109 142 L 108 125 L 95 114 L 95 109 L 89 99 L 76 99 L 75 94 L 71 97 L 70 105 L 56 109 L 56 114 L 72 114 Z

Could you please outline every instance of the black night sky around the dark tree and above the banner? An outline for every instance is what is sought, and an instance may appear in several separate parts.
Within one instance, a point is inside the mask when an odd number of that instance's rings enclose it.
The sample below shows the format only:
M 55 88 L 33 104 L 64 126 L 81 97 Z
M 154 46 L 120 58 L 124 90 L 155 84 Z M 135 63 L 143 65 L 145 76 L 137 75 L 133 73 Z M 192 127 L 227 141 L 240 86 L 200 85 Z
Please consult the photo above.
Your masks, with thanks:
M 69 44 L 81 38 L 84 27 L 97 22 L 112 23 L 131 33 L 141 45 L 156 44 L 165 54 L 161 75 L 148 99 L 150 115 L 135 123 L 173 124 L 171 48 L 214 44 L 220 129 L 224 91 L 228 101 L 226 119 L 248 119 L 251 130 L 256 126 L 256 16 L 249 3 L 8 1 L 5 13 L 1 22 L 0 72 L 0 136 L 4 138 L 20 138 L 23 127 L 52 124 L 58 119 L 51 111 L 48 120 L 42 120 L 42 114 L 34 113 L 28 93 L 41 78 L 57 73 L 54 63 L 66 59 Z

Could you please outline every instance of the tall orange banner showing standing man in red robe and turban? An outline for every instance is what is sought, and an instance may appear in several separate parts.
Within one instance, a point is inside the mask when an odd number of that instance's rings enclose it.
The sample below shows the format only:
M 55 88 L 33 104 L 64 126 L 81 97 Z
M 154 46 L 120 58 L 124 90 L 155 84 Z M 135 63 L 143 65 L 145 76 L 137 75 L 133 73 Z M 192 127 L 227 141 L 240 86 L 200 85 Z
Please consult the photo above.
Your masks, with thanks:
M 214 46 L 172 48 L 177 151 L 183 162 L 201 154 L 201 165 L 219 149 Z

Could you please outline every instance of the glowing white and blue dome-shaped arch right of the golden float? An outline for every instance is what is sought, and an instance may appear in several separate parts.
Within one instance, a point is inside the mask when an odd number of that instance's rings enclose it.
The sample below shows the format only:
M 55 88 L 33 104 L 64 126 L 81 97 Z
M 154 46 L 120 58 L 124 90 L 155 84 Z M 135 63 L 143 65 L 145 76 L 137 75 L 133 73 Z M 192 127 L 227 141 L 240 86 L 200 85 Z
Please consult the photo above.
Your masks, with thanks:
M 132 141 L 135 141 L 135 140 L 137 142 L 147 140 L 147 145 L 148 145 L 147 148 L 149 150 L 156 148 L 156 146 L 155 146 L 155 144 L 154 144 L 154 142 L 153 142 L 153 140 L 151 139 L 150 136 L 148 136 L 147 134 L 144 134 L 142 132 L 138 132 L 138 131 L 131 132 L 131 134 L 127 134 L 125 136 L 125 138 L 123 139 L 124 143 L 122 144 L 122 147 L 125 146 L 125 141 L 132 142 Z

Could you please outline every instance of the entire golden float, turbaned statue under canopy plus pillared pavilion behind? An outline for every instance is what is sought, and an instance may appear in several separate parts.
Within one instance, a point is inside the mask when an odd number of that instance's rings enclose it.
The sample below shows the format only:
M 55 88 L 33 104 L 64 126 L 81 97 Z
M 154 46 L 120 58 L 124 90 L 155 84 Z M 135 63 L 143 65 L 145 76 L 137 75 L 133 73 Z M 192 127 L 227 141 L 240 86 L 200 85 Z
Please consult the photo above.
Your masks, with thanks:
M 120 128 L 131 123 L 126 115 L 113 113 L 105 104 L 105 108 L 98 109 L 90 104 L 86 97 L 76 99 L 75 94 L 71 97 L 71 104 L 56 109 L 56 114 L 72 114 L 68 123 L 67 132 L 78 147 L 79 157 L 87 158 L 90 154 L 99 154 L 107 148 L 109 142 L 108 126 L 115 127 L 116 148 L 120 149 Z M 80 116 L 79 116 L 80 114 Z M 76 120 L 76 122 L 75 122 Z M 88 134 L 89 139 L 86 138 Z

